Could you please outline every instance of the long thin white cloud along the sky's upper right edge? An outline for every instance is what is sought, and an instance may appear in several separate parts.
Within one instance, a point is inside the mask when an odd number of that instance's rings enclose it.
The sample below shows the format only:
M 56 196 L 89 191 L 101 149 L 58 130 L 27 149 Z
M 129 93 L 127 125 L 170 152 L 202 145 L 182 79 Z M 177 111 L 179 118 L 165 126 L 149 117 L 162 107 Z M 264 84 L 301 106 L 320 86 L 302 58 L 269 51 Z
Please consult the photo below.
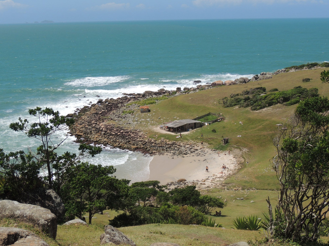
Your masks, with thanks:
M 240 5 L 242 3 L 300 3 L 300 2 L 314 2 L 314 0 L 194 0 L 192 1 L 195 6 L 214 6 L 214 5 Z M 321 2 L 321 1 L 320 1 Z

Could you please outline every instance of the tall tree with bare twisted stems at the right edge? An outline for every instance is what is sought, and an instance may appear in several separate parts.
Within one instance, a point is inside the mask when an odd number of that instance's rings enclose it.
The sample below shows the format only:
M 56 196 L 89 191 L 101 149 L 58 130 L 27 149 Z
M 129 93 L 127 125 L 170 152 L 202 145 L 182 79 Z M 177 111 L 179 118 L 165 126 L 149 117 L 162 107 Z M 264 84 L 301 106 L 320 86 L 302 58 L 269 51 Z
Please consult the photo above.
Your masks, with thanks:
M 273 168 L 280 184 L 276 231 L 293 241 L 316 242 L 329 211 L 329 100 L 307 98 L 276 131 Z

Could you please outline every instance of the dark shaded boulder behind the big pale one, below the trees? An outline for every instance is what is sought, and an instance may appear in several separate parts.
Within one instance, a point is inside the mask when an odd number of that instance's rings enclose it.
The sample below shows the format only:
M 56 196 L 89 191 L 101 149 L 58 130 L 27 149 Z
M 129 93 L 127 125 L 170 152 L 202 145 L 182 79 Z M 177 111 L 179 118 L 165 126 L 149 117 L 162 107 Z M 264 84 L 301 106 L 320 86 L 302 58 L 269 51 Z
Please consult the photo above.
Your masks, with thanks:
M 30 192 L 20 203 L 33 204 L 49 209 L 56 215 L 57 222 L 62 222 L 65 215 L 65 207 L 62 198 L 53 189 L 39 188 Z

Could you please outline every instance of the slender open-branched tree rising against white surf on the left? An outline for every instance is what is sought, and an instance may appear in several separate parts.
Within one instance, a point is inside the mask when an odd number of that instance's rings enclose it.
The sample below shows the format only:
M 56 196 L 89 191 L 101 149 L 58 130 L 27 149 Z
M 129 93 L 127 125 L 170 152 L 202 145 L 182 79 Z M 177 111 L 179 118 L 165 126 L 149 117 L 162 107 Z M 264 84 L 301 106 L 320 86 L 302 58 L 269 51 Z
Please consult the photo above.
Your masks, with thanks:
M 37 122 L 29 124 L 27 119 L 23 120 L 19 117 L 19 122 L 11 123 L 9 127 L 14 131 L 25 133 L 28 137 L 40 140 L 41 145 L 36 150 L 29 149 L 25 157 L 23 152 L 16 153 L 14 158 L 16 165 L 13 168 L 18 168 L 19 165 L 22 167 L 27 166 L 26 160 L 29 161 L 28 165 L 35 166 L 36 169 L 45 167 L 47 176 L 42 180 L 46 182 L 49 188 L 55 188 L 59 192 L 65 180 L 65 173 L 68 173 L 70 167 L 75 163 L 79 163 L 82 158 L 99 154 L 102 149 L 101 147 L 81 144 L 79 155 L 66 152 L 58 156 L 55 151 L 68 136 L 63 136 L 57 142 L 54 141 L 52 136 L 66 130 L 68 126 L 74 123 L 74 119 L 60 115 L 59 111 L 54 111 L 51 108 L 42 109 L 37 107 L 30 109 L 29 114 L 36 117 Z M 35 175 L 39 176 L 39 173 L 35 173 Z M 16 176 L 23 178 L 22 170 Z

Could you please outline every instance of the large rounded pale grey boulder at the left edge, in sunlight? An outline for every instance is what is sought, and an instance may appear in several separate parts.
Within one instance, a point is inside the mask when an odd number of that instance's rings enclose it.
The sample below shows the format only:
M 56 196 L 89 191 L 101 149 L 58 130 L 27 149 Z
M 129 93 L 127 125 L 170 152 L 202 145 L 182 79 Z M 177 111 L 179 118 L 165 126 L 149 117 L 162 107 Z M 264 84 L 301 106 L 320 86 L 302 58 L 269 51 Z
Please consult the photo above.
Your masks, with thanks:
M 45 234 L 56 238 L 56 215 L 49 209 L 37 205 L 23 204 L 11 200 L 0 201 L 0 218 L 13 218 L 39 227 Z

